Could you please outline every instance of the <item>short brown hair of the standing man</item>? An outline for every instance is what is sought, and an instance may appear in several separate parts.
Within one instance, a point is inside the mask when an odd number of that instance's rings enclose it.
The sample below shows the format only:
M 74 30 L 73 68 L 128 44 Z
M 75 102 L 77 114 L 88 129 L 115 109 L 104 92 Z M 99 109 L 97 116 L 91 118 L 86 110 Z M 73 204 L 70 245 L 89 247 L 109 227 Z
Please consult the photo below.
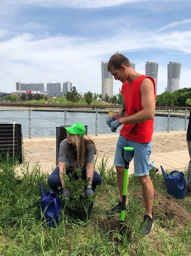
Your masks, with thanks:
M 121 70 L 121 66 L 124 65 L 128 68 L 131 67 L 131 64 L 127 57 L 122 55 L 121 53 L 115 53 L 110 57 L 110 60 L 107 64 L 107 71 L 109 72 L 111 68 L 113 67 L 115 70 L 119 69 Z

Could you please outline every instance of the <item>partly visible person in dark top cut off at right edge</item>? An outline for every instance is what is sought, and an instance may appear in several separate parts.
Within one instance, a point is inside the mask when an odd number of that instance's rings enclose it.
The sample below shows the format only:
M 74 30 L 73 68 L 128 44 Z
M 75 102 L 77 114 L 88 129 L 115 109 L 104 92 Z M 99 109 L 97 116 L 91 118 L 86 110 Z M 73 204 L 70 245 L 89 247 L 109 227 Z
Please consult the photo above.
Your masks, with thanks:
M 187 141 L 187 144 L 188 144 L 188 152 L 189 152 L 189 156 L 190 156 L 190 161 L 188 163 L 188 174 L 187 174 L 186 189 L 191 194 L 191 114 L 189 116 L 189 121 L 188 121 L 186 141 Z

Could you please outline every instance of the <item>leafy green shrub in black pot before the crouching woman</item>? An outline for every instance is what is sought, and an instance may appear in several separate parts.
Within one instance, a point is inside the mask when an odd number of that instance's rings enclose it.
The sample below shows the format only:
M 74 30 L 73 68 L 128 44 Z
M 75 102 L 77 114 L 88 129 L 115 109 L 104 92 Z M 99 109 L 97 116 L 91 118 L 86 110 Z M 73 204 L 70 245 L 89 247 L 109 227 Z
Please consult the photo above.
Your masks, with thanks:
M 77 215 L 77 219 L 86 220 L 87 214 L 90 215 L 91 213 L 95 197 L 94 195 L 86 196 L 86 188 L 90 185 L 91 178 L 83 180 L 81 171 L 81 169 L 75 169 L 68 175 L 64 173 L 62 175 L 64 187 L 68 189 L 70 195 L 69 200 L 66 201 L 69 215 Z M 75 178 L 76 175 L 77 179 Z

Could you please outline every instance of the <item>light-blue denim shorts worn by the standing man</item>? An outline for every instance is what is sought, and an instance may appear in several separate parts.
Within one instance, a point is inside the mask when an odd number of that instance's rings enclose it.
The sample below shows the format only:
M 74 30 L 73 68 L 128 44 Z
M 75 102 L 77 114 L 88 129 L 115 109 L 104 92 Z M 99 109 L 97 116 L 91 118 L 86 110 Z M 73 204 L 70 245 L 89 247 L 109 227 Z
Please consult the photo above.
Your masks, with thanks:
M 122 148 L 132 147 L 134 148 L 134 175 L 146 176 L 149 174 L 149 158 L 151 155 L 151 142 L 135 142 L 130 141 L 119 135 L 119 139 L 116 145 L 116 154 L 114 159 L 114 165 L 119 167 L 125 167 L 125 163 L 122 159 Z M 124 151 L 124 158 L 128 160 L 131 156 L 131 152 Z M 129 164 L 129 166 L 131 163 Z

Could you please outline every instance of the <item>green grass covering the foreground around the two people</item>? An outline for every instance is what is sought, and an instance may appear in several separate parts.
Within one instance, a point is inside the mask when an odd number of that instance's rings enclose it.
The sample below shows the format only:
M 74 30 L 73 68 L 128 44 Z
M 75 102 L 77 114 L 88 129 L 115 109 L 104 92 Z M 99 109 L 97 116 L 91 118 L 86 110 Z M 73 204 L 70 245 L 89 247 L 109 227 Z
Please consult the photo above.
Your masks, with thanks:
M 36 164 L 29 172 L 28 164 L 24 179 L 16 181 L 12 160 L 0 160 L 0 255 L 10 256 L 188 256 L 191 251 L 191 223 L 178 229 L 176 220 L 169 219 L 162 227 L 160 214 L 155 218 L 154 231 L 148 237 L 139 233 L 144 215 L 144 205 L 139 195 L 141 186 L 134 175 L 129 178 L 129 206 L 125 216 L 124 236 L 119 235 L 120 214 L 106 216 L 105 210 L 119 200 L 115 169 L 107 168 L 102 160 L 98 171 L 103 183 L 97 189 L 94 209 L 90 220 L 74 223 L 64 210 L 56 228 L 48 228 L 42 221 L 40 183 L 45 193 L 48 175 L 40 172 Z M 166 194 L 162 175 L 151 173 L 155 190 Z M 59 195 L 60 196 L 60 195 Z M 191 197 L 178 200 L 191 213 Z M 158 207 L 158 202 L 154 202 Z

